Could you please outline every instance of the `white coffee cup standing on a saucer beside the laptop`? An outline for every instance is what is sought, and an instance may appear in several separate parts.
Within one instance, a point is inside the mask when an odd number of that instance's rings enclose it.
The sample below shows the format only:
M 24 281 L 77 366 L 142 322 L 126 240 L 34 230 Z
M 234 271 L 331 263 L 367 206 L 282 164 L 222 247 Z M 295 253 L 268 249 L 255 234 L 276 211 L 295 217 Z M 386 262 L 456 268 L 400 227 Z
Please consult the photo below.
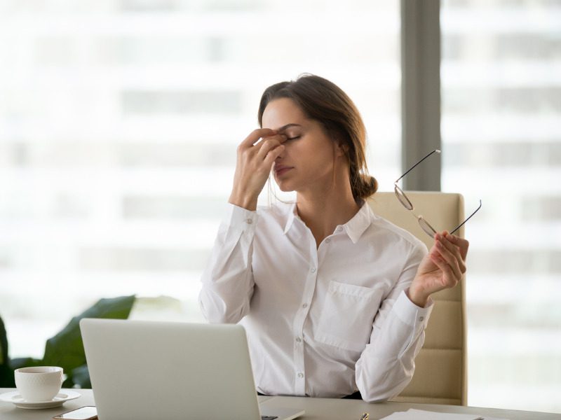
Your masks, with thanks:
M 50 401 L 62 386 L 62 367 L 20 367 L 14 372 L 15 386 L 28 402 Z

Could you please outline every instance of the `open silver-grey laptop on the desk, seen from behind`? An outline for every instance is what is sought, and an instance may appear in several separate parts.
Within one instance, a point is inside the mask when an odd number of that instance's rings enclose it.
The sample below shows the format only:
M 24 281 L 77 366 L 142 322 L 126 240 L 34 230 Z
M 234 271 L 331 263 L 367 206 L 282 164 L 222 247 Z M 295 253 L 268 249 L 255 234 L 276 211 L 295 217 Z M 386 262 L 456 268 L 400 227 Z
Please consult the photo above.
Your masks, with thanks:
M 260 409 L 241 325 L 83 318 L 100 420 L 290 420 Z

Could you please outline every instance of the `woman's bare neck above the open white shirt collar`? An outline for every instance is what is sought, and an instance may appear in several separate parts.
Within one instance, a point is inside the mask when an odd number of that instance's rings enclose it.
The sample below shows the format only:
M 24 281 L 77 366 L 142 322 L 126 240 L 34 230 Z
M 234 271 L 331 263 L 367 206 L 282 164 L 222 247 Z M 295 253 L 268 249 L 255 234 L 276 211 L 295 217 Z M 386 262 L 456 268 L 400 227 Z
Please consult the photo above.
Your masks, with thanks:
M 350 221 L 359 209 L 348 179 L 339 184 L 334 182 L 323 190 L 297 193 L 298 215 L 311 230 L 316 246 L 331 235 L 337 225 Z

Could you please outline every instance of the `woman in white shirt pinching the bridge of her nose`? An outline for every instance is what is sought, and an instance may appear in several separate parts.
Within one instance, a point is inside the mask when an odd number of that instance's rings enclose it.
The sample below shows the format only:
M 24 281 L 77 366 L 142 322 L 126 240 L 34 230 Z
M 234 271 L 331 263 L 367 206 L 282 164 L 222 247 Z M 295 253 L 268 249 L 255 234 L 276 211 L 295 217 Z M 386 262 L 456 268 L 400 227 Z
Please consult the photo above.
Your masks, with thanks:
M 330 81 L 306 75 L 268 87 L 259 125 L 238 146 L 229 214 L 203 274 L 203 314 L 244 325 L 259 393 L 398 395 L 431 294 L 461 279 L 468 241 L 439 232 L 427 253 L 372 213 L 365 127 Z M 295 203 L 257 208 L 271 169 Z

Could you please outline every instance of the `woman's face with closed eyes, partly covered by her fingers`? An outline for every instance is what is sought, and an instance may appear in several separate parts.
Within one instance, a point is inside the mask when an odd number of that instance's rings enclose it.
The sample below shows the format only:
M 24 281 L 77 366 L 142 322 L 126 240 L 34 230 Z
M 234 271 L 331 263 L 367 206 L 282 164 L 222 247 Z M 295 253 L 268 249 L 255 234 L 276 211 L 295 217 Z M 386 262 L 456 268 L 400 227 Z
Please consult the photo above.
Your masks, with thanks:
M 280 190 L 302 193 L 330 188 L 334 164 L 342 159 L 342 153 L 318 121 L 306 118 L 292 99 L 280 98 L 267 104 L 262 125 L 288 138 L 283 143 L 284 152 L 273 165 Z

